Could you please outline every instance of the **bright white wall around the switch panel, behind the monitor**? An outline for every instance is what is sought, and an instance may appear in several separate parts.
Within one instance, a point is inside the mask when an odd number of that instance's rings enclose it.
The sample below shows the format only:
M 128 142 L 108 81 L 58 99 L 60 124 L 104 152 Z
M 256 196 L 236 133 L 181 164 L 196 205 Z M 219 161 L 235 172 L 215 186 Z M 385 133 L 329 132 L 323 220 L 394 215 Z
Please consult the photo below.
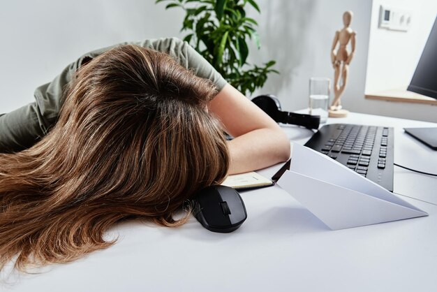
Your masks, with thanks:
M 380 29 L 380 6 L 409 10 L 408 31 Z M 366 92 L 407 87 L 437 13 L 437 1 L 373 0 Z M 381 78 L 383 77 L 383 78 Z

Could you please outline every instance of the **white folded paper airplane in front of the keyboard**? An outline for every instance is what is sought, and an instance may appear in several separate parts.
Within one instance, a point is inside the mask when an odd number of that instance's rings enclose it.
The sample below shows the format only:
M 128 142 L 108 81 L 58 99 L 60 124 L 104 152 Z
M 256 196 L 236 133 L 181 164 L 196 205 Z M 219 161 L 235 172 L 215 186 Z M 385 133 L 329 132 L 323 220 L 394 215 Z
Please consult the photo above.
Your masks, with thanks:
M 333 230 L 428 215 L 325 154 L 298 144 L 292 147 L 290 170 L 278 184 Z

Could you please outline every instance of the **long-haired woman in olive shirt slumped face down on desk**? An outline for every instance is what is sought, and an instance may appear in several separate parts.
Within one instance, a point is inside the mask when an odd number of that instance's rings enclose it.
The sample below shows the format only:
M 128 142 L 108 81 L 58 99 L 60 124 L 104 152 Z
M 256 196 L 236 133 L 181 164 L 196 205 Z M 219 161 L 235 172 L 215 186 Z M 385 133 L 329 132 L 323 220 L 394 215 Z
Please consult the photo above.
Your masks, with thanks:
M 108 247 L 122 219 L 179 226 L 196 191 L 290 154 L 279 126 L 175 38 L 86 54 L 36 101 L 0 117 L 0 268 Z

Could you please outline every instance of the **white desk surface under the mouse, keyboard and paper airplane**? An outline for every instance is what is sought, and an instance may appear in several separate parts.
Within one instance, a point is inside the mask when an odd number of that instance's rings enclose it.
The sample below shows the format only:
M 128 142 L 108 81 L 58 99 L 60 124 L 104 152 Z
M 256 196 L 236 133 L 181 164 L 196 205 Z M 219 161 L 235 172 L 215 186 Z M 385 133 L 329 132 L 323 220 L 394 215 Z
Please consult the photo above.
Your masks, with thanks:
M 394 161 L 437 172 L 437 152 L 403 126 L 425 122 L 351 114 L 328 122 L 395 127 Z M 304 143 L 307 129 L 284 127 Z M 260 170 L 271 176 L 280 167 Z M 242 192 L 248 219 L 211 233 L 130 222 L 113 247 L 40 275 L 9 279 L 6 291 L 437 291 L 437 177 L 394 168 L 394 191 L 429 217 L 330 231 L 278 186 Z M 413 199 L 417 198 L 417 199 Z M 427 203 L 427 202 L 430 203 Z

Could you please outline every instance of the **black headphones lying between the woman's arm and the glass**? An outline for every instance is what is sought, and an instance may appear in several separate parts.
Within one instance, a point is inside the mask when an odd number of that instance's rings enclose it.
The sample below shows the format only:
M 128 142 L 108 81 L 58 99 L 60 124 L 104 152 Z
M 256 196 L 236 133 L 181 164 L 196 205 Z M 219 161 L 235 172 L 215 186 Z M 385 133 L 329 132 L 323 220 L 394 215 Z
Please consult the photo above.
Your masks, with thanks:
M 318 129 L 320 124 L 319 115 L 304 115 L 281 111 L 279 99 L 272 94 L 256 96 L 252 99 L 252 102 L 278 123 L 295 124 L 309 129 Z

